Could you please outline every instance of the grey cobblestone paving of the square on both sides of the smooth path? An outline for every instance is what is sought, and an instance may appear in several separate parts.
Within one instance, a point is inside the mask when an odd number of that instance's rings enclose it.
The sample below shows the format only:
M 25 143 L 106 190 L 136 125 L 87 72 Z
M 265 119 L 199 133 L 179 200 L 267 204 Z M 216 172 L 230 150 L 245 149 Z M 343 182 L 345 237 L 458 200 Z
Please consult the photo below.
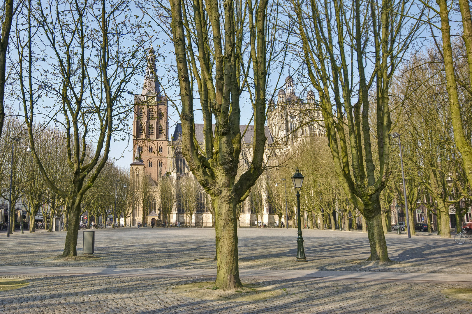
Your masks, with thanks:
M 214 229 L 99 229 L 95 231 L 93 260 L 51 261 L 51 257 L 62 252 L 65 234 L 15 233 L 7 239 L 0 233 L 1 266 L 25 269 L 23 274 L 3 272 L 0 277 L 30 281 L 25 288 L 0 292 L 0 313 L 472 313 L 471 302 L 440 293 L 443 289 L 472 288 L 472 281 L 262 275 L 264 269 L 471 274 L 471 243 L 459 245 L 435 234 L 420 233 L 408 239 L 406 235 L 389 233 L 386 235 L 389 256 L 401 263 L 379 266 L 359 261 L 369 256 L 366 233 L 303 230 L 308 262 L 299 263 L 295 261 L 295 229 L 238 229 L 240 269 L 260 270 L 253 273 L 261 274 L 243 276 L 242 281 L 286 289 L 277 298 L 241 302 L 206 301 L 172 293 L 176 285 L 209 281 L 211 276 L 54 272 L 53 267 L 57 266 L 214 270 L 216 263 L 211 260 L 215 255 Z M 78 254 L 82 254 L 82 232 Z M 47 266 L 51 272 L 33 274 L 25 266 Z

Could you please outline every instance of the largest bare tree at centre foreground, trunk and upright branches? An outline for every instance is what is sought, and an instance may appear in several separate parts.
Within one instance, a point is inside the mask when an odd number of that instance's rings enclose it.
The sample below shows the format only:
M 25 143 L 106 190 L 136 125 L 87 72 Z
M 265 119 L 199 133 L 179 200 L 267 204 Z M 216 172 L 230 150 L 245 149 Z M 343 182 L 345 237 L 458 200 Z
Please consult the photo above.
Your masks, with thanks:
M 161 7 L 171 19 L 182 104 L 179 112 L 182 153 L 200 185 L 210 194 L 215 210 L 218 259 L 215 285 L 223 290 L 234 289 L 242 285 L 237 253 L 237 204 L 247 197 L 264 166 L 266 90 L 270 61 L 275 55 L 272 49 L 277 42 L 278 3 L 169 2 L 170 9 Z M 195 142 L 194 86 L 203 113 L 203 147 Z M 240 129 L 240 98 L 244 91 L 253 105 L 253 158 L 250 168 L 236 181 L 245 132 Z

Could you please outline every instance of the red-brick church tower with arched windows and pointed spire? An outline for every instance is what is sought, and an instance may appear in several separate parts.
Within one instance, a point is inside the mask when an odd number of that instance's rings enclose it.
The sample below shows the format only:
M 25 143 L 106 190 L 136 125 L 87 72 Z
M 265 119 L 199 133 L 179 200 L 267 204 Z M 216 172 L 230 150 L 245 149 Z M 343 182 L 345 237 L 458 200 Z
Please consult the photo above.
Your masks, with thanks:
M 169 120 L 167 97 L 161 96 L 154 49 L 149 48 L 143 91 L 135 95 L 133 119 L 133 163 L 131 175 L 143 171 L 158 181 L 168 171 Z M 141 163 L 142 165 L 138 165 Z M 138 169 L 143 168 L 143 169 Z

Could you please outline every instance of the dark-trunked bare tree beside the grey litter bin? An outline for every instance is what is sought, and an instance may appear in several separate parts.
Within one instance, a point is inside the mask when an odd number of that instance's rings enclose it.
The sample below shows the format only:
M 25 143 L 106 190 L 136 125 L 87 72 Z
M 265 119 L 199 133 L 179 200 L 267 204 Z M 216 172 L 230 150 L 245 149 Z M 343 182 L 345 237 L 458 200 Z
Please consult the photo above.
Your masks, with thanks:
M 27 97 L 27 91 L 23 105 L 34 160 L 51 190 L 67 201 L 69 224 L 63 256 L 77 254 L 82 199 L 108 160 L 111 138 L 126 127 L 123 123 L 130 109 L 125 98 L 127 86 L 143 66 L 141 23 L 132 20 L 135 16 L 130 14 L 129 5 L 130 1 L 69 4 L 48 0 L 34 8 L 45 50 L 51 53 L 45 59 L 48 80 L 44 82 L 57 102 L 48 108 L 49 119 L 66 133 L 71 190 L 51 180 L 51 173 L 36 152 L 34 119 L 38 108 Z M 127 40 L 133 44 L 127 44 Z M 31 58 L 27 59 L 26 64 L 31 64 Z M 29 71 L 21 77 L 20 84 L 28 84 L 31 75 Z M 91 137 L 95 147 L 89 145 Z

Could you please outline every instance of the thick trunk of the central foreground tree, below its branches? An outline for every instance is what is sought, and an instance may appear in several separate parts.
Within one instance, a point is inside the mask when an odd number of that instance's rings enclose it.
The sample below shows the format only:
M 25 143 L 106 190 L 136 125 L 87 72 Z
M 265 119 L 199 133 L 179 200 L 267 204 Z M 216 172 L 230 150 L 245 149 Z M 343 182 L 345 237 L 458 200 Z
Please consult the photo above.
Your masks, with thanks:
M 228 180 L 230 181 L 230 180 Z M 222 290 L 242 287 L 239 279 L 236 200 L 229 188 L 222 188 L 218 198 L 212 200 L 215 208 L 217 276 L 215 286 Z

